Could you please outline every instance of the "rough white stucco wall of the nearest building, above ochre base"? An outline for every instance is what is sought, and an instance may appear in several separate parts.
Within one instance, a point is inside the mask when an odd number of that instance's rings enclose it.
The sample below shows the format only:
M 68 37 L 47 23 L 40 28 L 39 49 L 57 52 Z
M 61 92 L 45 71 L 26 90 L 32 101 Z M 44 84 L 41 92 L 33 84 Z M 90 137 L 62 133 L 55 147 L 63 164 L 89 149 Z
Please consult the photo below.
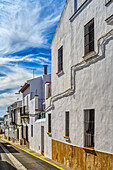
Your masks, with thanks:
M 73 0 L 68 1 L 60 24 L 52 41 L 52 96 L 71 87 L 71 66 L 84 59 L 84 26 L 94 18 L 95 52 L 98 39 L 113 29 L 105 19 L 113 14 L 113 3 L 89 1 L 83 10 L 70 21 L 73 14 Z M 63 45 L 63 71 L 57 76 L 58 49 Z M 103 44 L 103 54 L 76 69 L 75 91 L 70 95 L 56 98 L 52 110 L 52 138 L 66 142 L 65 112 L 70 112 L 70 143 L 84 146 L 84 109 L 95 109 L 95 150 L 113 153 L 113 38 Z

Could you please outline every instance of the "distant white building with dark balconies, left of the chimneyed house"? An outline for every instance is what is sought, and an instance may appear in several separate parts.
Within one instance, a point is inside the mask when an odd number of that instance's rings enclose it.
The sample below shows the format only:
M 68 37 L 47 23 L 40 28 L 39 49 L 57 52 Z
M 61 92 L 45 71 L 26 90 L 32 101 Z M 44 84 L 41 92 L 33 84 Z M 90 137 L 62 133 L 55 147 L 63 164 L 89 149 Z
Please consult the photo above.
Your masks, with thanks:
M 22 139 L 21 107 L 22 101 L 17 101 L 10 105 L 4 120 L 5 137 L 18 143 Z

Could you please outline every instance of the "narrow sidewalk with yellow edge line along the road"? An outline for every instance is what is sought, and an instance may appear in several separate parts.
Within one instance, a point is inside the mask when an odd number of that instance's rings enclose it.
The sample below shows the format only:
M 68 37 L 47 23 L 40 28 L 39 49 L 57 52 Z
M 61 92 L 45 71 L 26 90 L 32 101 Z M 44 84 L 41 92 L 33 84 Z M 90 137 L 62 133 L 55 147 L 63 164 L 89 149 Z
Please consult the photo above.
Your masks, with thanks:
M 3 137 L 1 137 L 0 139 L 7 142 L 7 143 L 10 143 L 14 147 L 16 147 L 16 148 L 18 148 L 18 149 L 32 155 L 32 156 L 38 158 L 38 159 L 41 159 L 41 160 L 55 166 L 56 168 L 58 168 L 60 170 L 72 170 L 71 168 L 67 168 L 63 164 L 60 164 L 60 163 L 58 163 L 56 161 L 53 161 L 53 160 L 51 160 L 51 159 L 49 159 L 49 158 L 47 158 L 45 156 L 40 155 L 39 153 L 37 153 L 37 152 L 35 152 L 35 151 L 31 150 L 31 149 L 28 149 L 25 145 L 23 146 L 23 145 L 19 145 L 19 144 L 16 144 L 16 143 L 14 144 L 11 141 L 8 141 L 8 140 L 4 139 Z

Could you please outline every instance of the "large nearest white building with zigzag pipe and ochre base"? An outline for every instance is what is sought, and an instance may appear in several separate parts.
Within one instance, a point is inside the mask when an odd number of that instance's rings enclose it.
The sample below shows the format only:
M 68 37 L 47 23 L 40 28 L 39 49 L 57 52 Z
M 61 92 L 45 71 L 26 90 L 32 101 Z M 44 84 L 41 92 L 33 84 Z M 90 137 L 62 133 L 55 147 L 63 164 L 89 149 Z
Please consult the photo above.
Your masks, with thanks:
M 113 1 L 67 0 L 51 50 L 45 156 L 113 169 Z

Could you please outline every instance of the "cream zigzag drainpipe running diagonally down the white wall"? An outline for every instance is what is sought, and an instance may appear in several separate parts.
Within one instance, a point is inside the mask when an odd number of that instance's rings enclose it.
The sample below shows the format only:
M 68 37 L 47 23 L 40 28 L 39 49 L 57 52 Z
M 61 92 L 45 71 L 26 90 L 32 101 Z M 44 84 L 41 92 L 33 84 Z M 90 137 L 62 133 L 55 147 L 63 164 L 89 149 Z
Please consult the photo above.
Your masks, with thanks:
M 95 58 L 99 58 L 102 55 L 102 48 L 103 48 L 103 43 L 104 41 L 109 38 L 110 36 L 113 36 L 113 29 L 110 30 L 107 34 L 103 35 L 101 38 L 99 38 L 98 40 L 98 52 L 94 52 L 91 56 L 88 56 L 88 58 L 84 58 L 84 60 L 82 60 L 81 62 L 77 63 L 76 65 L 71 66 L 71 87 L 69 89 L 67 89 L 66 91 L 59 93 L 53 97 L 51 97 L 50 99 L 50 105 L 45 109 L 45 111 L 47 111 L 48 109 L 51 109 L 53 106 L 53 99 L 57 99 L 57 97 L 69 94 L 71 92 L 74 91 L 74 72 L 75 69 L 83 66 L 84 64 L 86 64 L 87 61 L 95 59 Z

